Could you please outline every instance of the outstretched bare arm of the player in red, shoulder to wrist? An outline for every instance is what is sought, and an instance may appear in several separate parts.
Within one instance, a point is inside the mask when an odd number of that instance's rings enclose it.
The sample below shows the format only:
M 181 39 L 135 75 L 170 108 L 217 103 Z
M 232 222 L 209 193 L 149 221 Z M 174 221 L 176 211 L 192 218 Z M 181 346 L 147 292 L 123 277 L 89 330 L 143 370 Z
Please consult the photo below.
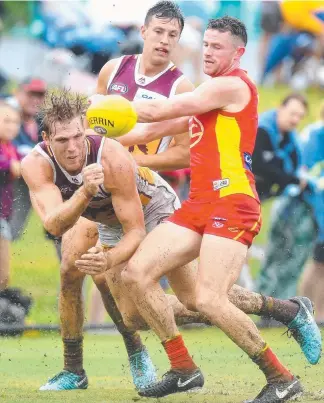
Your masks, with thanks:
M 228 111 L 238 112 L 247 105 L 250 96 L 247 84 L 239 77 L 216 77 L 204 82 L 193 92 L 170 99 L 135 101 L 133 106 L 138 122 L 161 122 L 199 115 L 213 109 L 234 108 Z

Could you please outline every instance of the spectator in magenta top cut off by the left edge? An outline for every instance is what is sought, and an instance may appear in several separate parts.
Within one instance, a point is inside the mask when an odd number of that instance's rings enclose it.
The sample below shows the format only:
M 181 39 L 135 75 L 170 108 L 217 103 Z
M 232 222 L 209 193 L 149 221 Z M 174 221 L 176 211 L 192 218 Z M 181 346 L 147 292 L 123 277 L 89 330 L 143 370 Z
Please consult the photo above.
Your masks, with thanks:
M 12 106 L 0 101 L 0 291 L 9 281 L 9 219 L 13 205 L 13 181 L 20 176 L 20 162 L 12 140 L 17 136 L 20 116 Z

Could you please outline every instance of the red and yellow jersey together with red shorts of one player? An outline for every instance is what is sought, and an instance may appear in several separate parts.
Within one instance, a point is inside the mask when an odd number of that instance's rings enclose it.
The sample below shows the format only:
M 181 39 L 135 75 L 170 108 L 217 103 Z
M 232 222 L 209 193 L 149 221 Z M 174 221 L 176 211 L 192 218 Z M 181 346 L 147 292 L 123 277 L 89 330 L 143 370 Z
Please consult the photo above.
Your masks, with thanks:
M 215 109 L 190 120 L 189 199 L 170 218 L 174 224 L 250 246 L 260 231 L 260 201 L 252 173 L 258 93 L 246 72 L 251 99 L 240 112 Z

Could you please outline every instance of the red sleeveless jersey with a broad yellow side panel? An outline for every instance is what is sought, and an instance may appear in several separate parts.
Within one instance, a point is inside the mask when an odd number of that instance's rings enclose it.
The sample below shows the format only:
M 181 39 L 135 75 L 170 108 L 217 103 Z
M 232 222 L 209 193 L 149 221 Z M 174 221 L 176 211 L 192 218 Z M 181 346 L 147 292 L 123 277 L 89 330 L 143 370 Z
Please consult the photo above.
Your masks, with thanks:
M 246 72 L 240 77 L 250 88 L 251 99 L 240 112 L 215 109 L 190 119 L 191 199 L 213 200 L 244 194 L 258 200 L 252 173 L 252 153 L 258 125 L 258 93 Z

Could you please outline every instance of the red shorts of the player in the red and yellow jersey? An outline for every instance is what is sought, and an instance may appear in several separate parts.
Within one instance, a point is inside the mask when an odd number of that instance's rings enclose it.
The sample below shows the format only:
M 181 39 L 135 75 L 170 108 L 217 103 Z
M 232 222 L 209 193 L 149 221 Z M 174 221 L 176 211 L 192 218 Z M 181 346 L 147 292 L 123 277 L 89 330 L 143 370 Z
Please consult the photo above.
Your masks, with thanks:
M 213 201 L 188 199 L 168 221 L 198 232 L 251 246 L 261 228 L 261 208 L 253 197 L 235 194 Z

